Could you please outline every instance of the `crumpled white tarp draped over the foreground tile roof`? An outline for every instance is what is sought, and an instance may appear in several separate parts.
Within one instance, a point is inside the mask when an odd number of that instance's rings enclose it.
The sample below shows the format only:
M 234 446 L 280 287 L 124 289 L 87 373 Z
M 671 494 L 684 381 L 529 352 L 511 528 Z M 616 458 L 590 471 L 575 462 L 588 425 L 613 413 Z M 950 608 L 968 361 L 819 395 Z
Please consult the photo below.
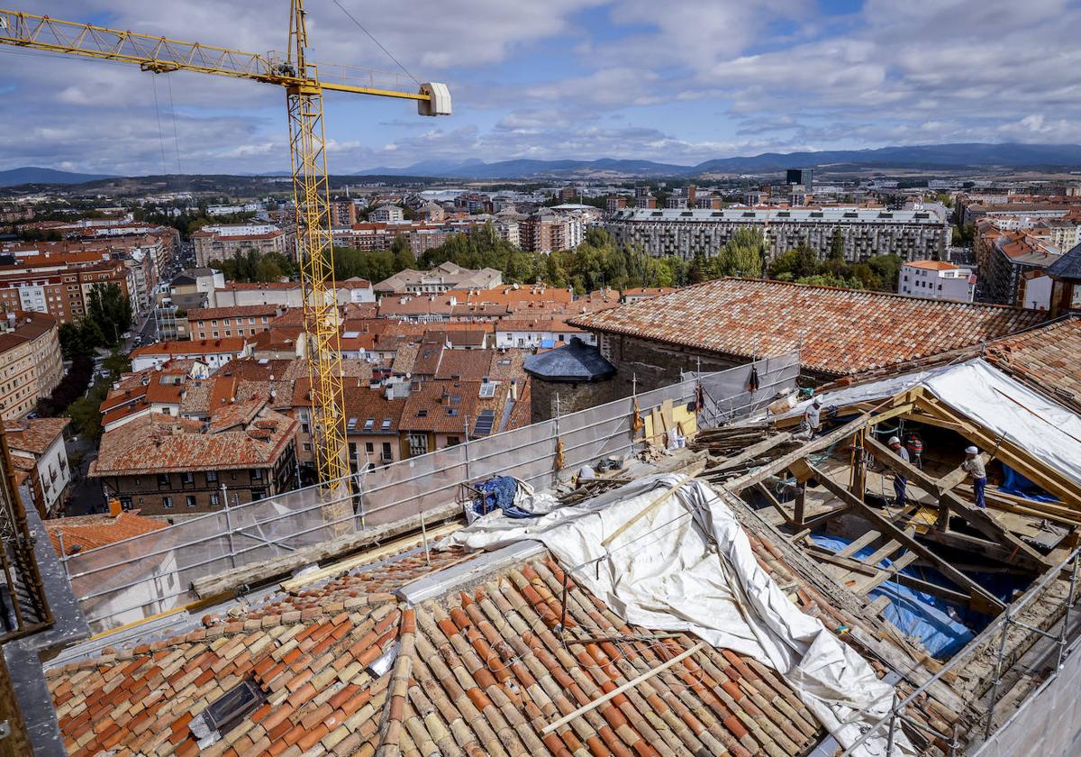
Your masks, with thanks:
M 601 545 L 646 508 L 608 547 Z M 889 713 L 893 687 L 789 601 L 759 566 L 732 510 L 702 481 L 650 476 L 535 520 L 492 513 L 442 546 L 496 549 L 530 539 L 544 543 L 575 582 L 628 623 L 689 632 L 777 670 L 842 746 Z M 854 754 L 884 755 L 884 730 Z M 916 754 L 899 730 L 894 748 Z

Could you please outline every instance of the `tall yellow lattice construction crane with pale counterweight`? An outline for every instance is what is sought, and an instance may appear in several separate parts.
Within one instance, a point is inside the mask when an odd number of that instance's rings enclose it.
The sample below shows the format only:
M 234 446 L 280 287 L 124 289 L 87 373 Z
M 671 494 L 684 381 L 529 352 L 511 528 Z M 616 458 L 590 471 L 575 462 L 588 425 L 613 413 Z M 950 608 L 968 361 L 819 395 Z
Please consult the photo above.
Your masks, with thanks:
M 322 483 L 348 481 L 322 93 L 330 90 L 415 99 L 419 115 L 448 116 L 451 112 L 451 97 L 446 87 L 424 83 L 419 84 L 418 92 L 403 92 L 377 87 L 378 76 L 390 75 L 377 75 L 374 71 L 362 71 L 364 85 L 345 81 L 346 76 L 341 81 L 331 80 L 336 77 L 320 76 L 319 66 L 309 62 L 306 55 L 308 31 L 304 0 L 291 0 L 289 52 L 284 58 L 273 53 L 261 55 L 2 9 L 0 43 L 132 63 L 144 71 L 154 74 L 196 71 L 285 88 L 304 321 L 308 333 L 316 461 Z M 328 66 L 323 68 L 326 69 Z M 347 483 L 345 486 L 348 487 Z M 335 490 L 332 500 L 339 503 L 348 501 L 341 491 L 341 484 L 335 484 L 332 489 Z M 342 509 L 344 508 L 338 508 L 339 512 Z

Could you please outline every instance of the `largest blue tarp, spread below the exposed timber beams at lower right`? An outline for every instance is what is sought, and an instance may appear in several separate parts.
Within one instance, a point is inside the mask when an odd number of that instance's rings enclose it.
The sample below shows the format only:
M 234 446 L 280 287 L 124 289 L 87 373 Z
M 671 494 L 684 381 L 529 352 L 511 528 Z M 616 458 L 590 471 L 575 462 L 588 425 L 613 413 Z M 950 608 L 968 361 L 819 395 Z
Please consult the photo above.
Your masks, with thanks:
M 825 536 L 812 534 L 811 539 L 815 544 L 826 547 L 830 552 L 837 553 L 843 549 L 850 542 L 840 536 Z M 865 547 L 853 557 L 863 559 L 873 554 L 871 547 Z M 888 568 L 890 560 L 882 560 L 879 567 Z M 902 573 L 915 577 L 927 580 L 920 571 L 911 568 L 903 568 Z M 872 597 L 889 597 L 890 606 L 883 613 L 885 619 L 893 623 L 906 636 L 919 638 L 924 649 L 933 656 L 949 656 L 966 645 L 973 637 L 972 630 L 959 621 L 950 616 L 949 611 L 957 613 L 957 608 L 947 601 L 923 594 L 915 589 L 902 586 L 892 581 L 880 584 L 871 589 Z

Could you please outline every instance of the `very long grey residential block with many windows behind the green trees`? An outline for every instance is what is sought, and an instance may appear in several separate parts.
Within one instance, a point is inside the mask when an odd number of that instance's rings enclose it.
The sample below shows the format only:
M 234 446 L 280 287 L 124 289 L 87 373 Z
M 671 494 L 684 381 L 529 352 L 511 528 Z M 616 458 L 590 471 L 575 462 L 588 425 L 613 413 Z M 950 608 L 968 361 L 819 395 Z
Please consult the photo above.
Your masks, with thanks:
M 772 260 L 800 244 L 829 254 L 835 233 L 844 237 L 844 257 L 866 261 L 893 254 L 930 260 L 945 249 L 949 227 L 929 211 L 870 208 L 729 208 L 725 210 L 624 209 L 605 227 L 616 242 L 655 257 L 711 257 L 740 228 L 760 229 Z

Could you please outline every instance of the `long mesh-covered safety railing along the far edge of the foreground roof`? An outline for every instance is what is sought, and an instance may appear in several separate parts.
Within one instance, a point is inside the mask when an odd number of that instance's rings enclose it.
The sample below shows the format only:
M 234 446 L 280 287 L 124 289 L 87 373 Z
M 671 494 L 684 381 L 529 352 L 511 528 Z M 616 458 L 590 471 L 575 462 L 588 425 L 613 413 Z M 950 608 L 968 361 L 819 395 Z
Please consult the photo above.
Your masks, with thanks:
M 752 371 L 758 385 L 748 391 Z M 670 400 L 702 401 L 699 425 L 760 409 L 780 389 L 795 387 L 798 354 L 759 360 L 626 397 L 492 436 L 410 457 L 353 477 L 348 514 L 309 487 L 252 503 L 195 516 L 168 528 L 107 546 L 65 555 L 64 568 L 95 632 L 136 622 L 197 599 L 196 580 L 312 546 L 343 533 L 360 532 L 453 503 L 463 481 L 515 476 L 544 489 L 555 483 L 557 453 L 563 472 L 606 456 L 636 451 L 633 411 Z M 341 487 L 342 490 L 349 488 Z M 63 552 L 63 550 L 62 550 Z

